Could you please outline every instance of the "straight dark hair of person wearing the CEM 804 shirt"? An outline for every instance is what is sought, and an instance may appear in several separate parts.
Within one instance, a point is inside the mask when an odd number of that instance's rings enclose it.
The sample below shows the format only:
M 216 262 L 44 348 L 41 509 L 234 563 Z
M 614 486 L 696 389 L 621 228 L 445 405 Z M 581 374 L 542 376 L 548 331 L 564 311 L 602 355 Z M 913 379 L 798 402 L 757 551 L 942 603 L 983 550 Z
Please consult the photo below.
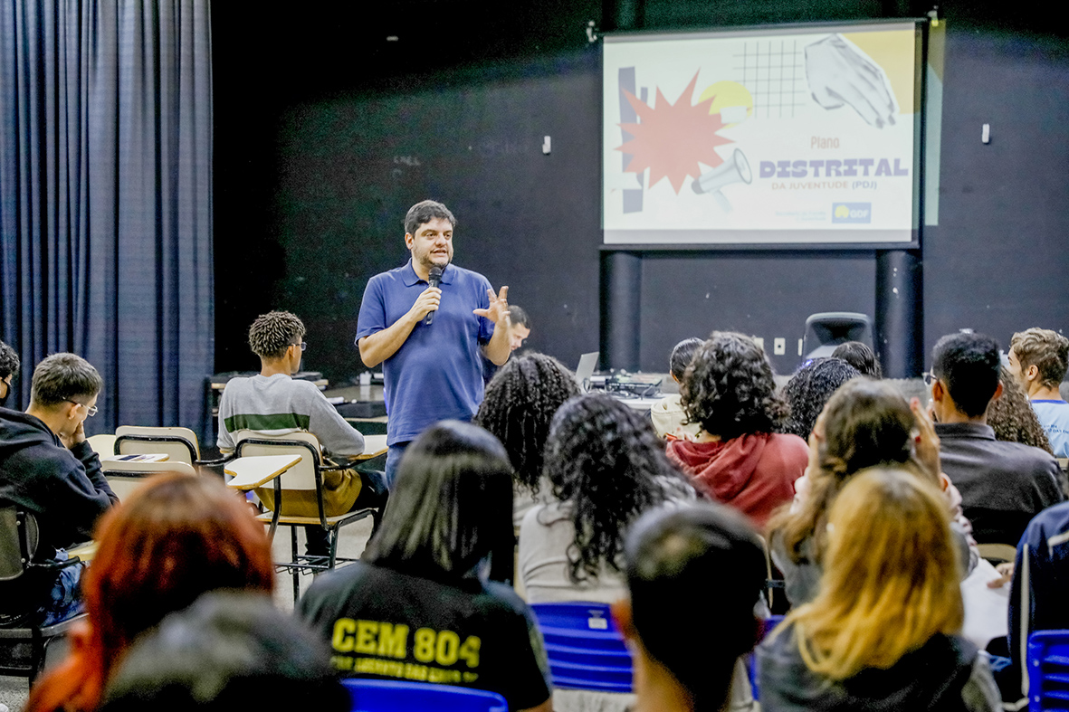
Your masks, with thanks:
M 492 578 L 512 577 L 512 467 L 482 428 L 444 420 L 405 450 L 390 504 L 361 557 L 458 581 L 493 552 Z

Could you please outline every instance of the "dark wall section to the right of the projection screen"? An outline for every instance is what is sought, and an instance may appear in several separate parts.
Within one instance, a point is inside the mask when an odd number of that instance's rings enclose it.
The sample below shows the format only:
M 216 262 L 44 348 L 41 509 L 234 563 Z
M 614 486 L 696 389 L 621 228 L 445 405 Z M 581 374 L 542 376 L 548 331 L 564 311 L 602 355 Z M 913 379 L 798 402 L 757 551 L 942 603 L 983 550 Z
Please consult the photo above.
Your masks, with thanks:
M 960 328 L 1005 349 L 1013 331 L 1069 327 L 1066 43 L 948 32 L 943 117 L 940 226 L 924 241 L 926 363 Z

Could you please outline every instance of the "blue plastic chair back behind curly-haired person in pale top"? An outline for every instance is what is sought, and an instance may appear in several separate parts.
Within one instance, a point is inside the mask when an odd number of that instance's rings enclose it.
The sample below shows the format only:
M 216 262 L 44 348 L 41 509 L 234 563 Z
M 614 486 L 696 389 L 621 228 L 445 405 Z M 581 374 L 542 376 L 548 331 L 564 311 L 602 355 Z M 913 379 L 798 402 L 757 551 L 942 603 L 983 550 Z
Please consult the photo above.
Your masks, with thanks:
M 531 605 L 555 687 L 630 693 L 631 652 L 604 603 Z

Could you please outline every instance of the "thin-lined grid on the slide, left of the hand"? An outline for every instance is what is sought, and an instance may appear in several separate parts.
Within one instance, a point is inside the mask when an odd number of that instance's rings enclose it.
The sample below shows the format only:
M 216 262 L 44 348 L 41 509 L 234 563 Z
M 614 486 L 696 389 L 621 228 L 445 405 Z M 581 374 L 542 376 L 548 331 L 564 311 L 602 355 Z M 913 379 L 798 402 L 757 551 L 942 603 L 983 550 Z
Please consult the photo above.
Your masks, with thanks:
M 735 81 L 754 97 L 754 118 L 793 119 L 805 96 L 805 67 L 796 40 L 747 42 L 734 55 Z

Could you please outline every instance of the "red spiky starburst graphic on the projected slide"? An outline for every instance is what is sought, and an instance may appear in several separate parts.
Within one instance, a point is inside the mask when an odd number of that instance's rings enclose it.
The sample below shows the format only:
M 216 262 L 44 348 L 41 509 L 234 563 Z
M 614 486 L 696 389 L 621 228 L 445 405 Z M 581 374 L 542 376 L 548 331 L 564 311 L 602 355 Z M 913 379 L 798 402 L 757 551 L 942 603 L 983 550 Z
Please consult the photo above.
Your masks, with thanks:
M 686 176 L 697 179 L 701 174 L 698 161 L 713 168 L 724 162 L 715 146 L 731 143 L 731 139 L 718 136 L 724 128 L 721 114 L 709 113 L 715 96 L 691 105 L 698 74 L 686 86 L 675 104 L 669 104 L 661 88 L 657 88 L 656 108 L 651 108 L 631 92 L 624 90 L 628 102 L 638 114 L 640 123 L 619 124 L 620 128 L 633 137 L 617 148 L 631 155 L 631 162 L 623 169 L 625 173 L 641 173 L 650 169 L 650 187 L 667 177 L 679 195 Z

